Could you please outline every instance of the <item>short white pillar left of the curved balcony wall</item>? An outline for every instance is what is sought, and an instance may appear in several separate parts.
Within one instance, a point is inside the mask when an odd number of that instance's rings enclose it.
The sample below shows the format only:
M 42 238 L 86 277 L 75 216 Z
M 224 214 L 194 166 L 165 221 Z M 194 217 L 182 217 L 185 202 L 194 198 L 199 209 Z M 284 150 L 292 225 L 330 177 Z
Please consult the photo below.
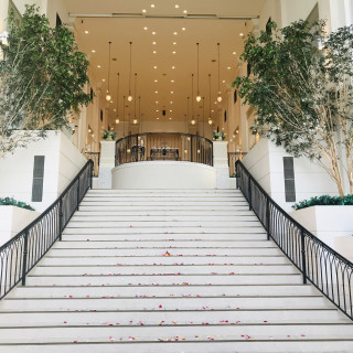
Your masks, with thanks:
M 111 169 L 115 168 L 116 141 L 100 141 L 98 189 L 111 189 Z

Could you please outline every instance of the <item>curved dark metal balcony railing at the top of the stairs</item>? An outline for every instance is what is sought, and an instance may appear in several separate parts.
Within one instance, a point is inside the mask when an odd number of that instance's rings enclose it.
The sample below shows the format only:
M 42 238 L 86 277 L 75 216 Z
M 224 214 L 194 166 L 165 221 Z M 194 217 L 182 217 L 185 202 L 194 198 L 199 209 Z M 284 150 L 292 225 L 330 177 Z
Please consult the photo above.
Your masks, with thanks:
M 213 165 L 213 143 L 201 136 L 178 132 L 130 135 L 116 143 L 116 165 L 156 160 Z

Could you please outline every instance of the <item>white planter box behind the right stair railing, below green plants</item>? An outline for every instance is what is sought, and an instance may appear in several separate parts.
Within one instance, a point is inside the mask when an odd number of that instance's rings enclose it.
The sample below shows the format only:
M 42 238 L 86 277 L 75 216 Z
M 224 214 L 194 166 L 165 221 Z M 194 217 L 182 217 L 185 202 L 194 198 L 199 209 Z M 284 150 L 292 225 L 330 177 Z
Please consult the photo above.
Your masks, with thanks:
M 334 250 L 353 259 L 353 206 L 312 206 L 290 214 Z

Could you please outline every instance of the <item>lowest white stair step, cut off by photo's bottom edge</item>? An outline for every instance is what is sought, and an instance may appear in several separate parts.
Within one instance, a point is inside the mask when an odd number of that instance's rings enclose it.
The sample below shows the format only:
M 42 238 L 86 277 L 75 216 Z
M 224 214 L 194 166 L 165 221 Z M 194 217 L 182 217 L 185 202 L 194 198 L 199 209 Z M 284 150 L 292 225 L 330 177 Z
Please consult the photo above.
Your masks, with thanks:
M 113 339 L 113 338 L 111 338 Z M 170 340 L 171 342 L 168 342 Z M 175 340 L 178 342 L 175 343 Z M 214 340 L 214 339 L 213 339 Z M 353 341 L 351 340 L 325 340 L 322 336 L 302 338 L 284 336 L 276 340 L 270 336 L 268 340 L 256 341 L 252 336 L 242 335 L 237 340 L 215 340 L 212 338 L 192 338 L 189 342 L 182 341 L 178 335 L 161 338 L 158 342 L 133 341 L 132 338 L 121 343 L 111 341 L 109 338 L 104 342 L 69 341 L 65 344 L 31 344 L 31 345 L 0 345 L 1 353 L 351 353 Z M 234 351 L 236 346 L 237 351 Z

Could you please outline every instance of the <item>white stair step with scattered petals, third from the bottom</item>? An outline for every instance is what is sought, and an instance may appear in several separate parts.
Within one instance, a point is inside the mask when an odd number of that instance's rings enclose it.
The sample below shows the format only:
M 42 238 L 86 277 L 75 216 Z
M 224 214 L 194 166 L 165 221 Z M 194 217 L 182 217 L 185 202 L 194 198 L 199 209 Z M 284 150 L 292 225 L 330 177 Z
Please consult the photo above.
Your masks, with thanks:
M 287 323 L 349 323 L 350 320 L 336 309 L 322 310 L 203 310 L 203 311 L 137 311 L 117 312 L 2 312 L 0 327 L 74 327 L 74 325 L 194 325 L 208 324 L 287 324 Z

